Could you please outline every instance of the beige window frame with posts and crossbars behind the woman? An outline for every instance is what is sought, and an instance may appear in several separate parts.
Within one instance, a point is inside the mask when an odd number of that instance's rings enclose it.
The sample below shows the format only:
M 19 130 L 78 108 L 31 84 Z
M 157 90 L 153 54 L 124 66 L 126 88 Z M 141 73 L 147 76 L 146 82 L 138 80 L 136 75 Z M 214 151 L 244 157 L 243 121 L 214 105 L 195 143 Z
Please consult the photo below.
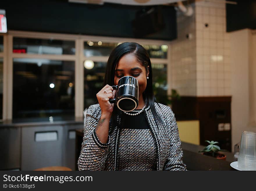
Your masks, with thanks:
M 0 34 L 2 35 L 2 34 Z M 108 56 L 90 56 L 86 57 L 83 54 L 84 42 L 102 41 L 102 42 L 138 42 L 139 44 L 157 44 L 168 45 L 167 59 L 150 58 L 154 64 L 167 64 L 167 93 L 171 93 L 171 78 L 170 78 L 170 41 L 164 40 L 147 40 L 134 38 L 115 38 L 104 36 L 90 35 L 72 35 L 62 33 L 43 33 L 29 31 L 13 31 L 9 30 L 7 34 L 3 34 L 4 51 L 0 53 L 3 57 L 3 118 L 2 120 L 12 119 L 13 115 L 13 58 L 43 58 L 50 60 L 67 60 L 75 62 L 75 118 L 83 117 L 84 106 L 84 60 L 93 60 L 94 62 L 107 62 Z M 54 40 L 74 40 L 76 52 L 74 55 L 49 55 L 49 54 L 22 54 L 13 53 L 13 37 L 18 38 L 36 38 L 36 39 L 54 39 Z

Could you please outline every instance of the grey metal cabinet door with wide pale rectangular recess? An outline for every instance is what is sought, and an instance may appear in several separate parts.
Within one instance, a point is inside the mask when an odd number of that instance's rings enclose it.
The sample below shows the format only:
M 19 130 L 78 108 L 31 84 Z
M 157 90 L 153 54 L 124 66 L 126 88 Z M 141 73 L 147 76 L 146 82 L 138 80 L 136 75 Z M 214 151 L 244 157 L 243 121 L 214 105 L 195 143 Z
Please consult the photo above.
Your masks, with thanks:
M 21 170 L 63 166 L 63 126 L 22 127 Z

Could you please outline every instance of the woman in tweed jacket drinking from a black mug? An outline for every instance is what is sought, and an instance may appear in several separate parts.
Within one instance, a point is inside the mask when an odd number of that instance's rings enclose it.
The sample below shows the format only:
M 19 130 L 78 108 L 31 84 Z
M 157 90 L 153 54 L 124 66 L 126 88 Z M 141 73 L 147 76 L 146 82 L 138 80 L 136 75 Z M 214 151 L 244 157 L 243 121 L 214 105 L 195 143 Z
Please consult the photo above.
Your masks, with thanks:
M 123 76 L 139 84 L 136 110 L 119 110 L 113 99 Z M 125 42 L 110 54 L 104 88 L 98 104 L 86 114 L 79 170 L 186 170 L 177 123 L 170 107 L 156 103 L 152 68 L 147 51 L 138 43 Z

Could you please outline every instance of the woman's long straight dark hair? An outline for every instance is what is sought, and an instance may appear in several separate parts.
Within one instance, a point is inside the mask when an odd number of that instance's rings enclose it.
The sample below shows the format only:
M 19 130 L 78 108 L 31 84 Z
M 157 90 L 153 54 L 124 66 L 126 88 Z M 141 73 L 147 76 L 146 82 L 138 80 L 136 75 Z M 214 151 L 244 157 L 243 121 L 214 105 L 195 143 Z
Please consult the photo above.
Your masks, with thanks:
M 124 42 L 119 44 L 113 51 L 111 52 L 107 67 L 106 67 L 106 73 L 105 73 L 105 79 L 104 79 L 104 86 L 106 84 L 114 85 L 114 78 L 115 78 L 115 68 L 119 62 L 119 60 L 125 55 L 132 53 L 137 58 L 137 61 L 141 63 L 146 69 L 146 72 L 149 70 L 149 76 L 147 79 L 147 86 L 145 91 L 143 92 L 143 99 L 146 101 L 147 104 L 150 105 L 150 109 L 152 111 L 152 114 L 154 116 L 154 120 L 156 124 L 158 122 L 162 122 L 161 118 L 156 112 L 154 102 L 156 101 L 156 98 L 153 93 L 153 87 L 152 87 L 152 67 L 151 67 L 151 61 L 149 58 L 149 55 L 145 48 L 141 46 L 140 44 L 136 42 Z M 148 67 L 149 66 L 149 67 Z M 157 103 L 158 104 L 158 103 Z M 113 128 L 115 126 L 122 126 L 122 117 L 124 117 L 124 113 L 121 112 L 116 106 L 113 108 L 113 112 L 111 115 L 111 128 L 110 132 L 113 131 Z

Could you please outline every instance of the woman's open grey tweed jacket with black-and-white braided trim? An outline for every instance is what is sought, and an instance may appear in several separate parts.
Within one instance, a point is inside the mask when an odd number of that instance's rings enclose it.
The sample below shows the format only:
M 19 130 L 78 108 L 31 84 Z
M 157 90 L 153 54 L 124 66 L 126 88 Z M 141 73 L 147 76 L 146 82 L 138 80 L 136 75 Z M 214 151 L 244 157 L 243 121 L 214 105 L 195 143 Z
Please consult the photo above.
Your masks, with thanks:
M 186 170 L 175 116 L 170 107 L 160 103 L 160 107 L 157 103 L 154 105 L 163 124 L 157 128 L 150 106 L 145 109 L 145 114 L 156 147 L 157 170 Z M 77 162 L 79 170 L 118 170 L 120 129 L 114 128 L 106 144 L 100 142 L 95 133 L 100 117 L 99 104 L 91 105 L 86 114 L 82 148 Z

